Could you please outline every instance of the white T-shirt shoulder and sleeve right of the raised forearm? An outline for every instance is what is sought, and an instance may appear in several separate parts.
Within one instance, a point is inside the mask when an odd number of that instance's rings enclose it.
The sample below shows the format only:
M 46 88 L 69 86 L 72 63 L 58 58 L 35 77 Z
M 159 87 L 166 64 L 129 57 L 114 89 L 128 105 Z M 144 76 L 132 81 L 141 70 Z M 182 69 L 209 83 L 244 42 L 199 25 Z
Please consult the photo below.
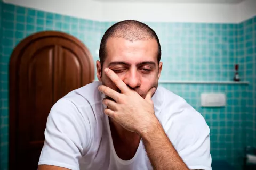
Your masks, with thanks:
M 189 169 L 211 169 L 210 128 L 185 99 L 161 88 L 161 123 L 172 145 Z

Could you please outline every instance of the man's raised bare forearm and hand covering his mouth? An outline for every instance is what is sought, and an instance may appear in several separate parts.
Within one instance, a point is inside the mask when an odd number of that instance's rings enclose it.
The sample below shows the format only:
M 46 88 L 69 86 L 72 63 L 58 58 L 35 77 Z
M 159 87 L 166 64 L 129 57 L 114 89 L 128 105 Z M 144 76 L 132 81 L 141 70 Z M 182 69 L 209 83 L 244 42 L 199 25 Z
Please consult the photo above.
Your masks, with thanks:
M 156 89 L 150 89 L 143 99 L 127 87 L 112 70 L 105 69 L 105 72 L 121 93 L 103 85 L 99 86 L 101 92 L 115 100 L 103 99 L 103 104 L 107 106 L 104 113 L 125 129 L 140 134 L 154 169 L 188 169 L 155 116 L 151 96 Z

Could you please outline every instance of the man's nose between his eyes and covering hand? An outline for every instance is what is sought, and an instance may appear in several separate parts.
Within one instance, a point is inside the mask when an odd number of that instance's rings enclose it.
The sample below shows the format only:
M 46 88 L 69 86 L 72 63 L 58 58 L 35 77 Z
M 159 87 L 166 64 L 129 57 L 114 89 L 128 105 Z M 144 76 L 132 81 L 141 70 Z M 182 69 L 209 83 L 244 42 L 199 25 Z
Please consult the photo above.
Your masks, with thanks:
M 124 78 L 124 83 L 132 89 L 140 87 L 140 75 L 137 73 L 137 70 L 130 70 L 126 73 Z

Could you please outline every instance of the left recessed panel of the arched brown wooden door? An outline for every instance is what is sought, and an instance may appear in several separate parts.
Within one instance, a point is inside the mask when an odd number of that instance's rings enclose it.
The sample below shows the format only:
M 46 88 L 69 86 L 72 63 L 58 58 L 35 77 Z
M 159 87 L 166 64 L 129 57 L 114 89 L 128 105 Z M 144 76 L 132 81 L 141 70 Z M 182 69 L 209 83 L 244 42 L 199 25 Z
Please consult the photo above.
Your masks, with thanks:
M 44 134 L 38 133 L 45 129 L 45 125 L 38 122 L 46 122 L 47 114 L 53 103 L 53 57 L 54 46 L 43 48 L 33 55 L 29 64 L 29 97 L 30 97 L 30 121 L 28 129 L 29 142 L 43 141 Z M 27 113 L 25 113 L 27 114 Z M 22 123 L 20 123 L 22 125 Z

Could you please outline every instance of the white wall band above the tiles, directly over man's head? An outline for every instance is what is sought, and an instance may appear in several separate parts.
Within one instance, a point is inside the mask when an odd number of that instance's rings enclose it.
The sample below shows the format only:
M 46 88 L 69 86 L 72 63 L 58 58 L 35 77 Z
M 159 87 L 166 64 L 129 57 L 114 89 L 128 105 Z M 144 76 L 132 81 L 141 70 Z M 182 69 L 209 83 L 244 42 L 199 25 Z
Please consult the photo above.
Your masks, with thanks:
M 103 21 L 235 23 L 235 4 L 103 3 Z

